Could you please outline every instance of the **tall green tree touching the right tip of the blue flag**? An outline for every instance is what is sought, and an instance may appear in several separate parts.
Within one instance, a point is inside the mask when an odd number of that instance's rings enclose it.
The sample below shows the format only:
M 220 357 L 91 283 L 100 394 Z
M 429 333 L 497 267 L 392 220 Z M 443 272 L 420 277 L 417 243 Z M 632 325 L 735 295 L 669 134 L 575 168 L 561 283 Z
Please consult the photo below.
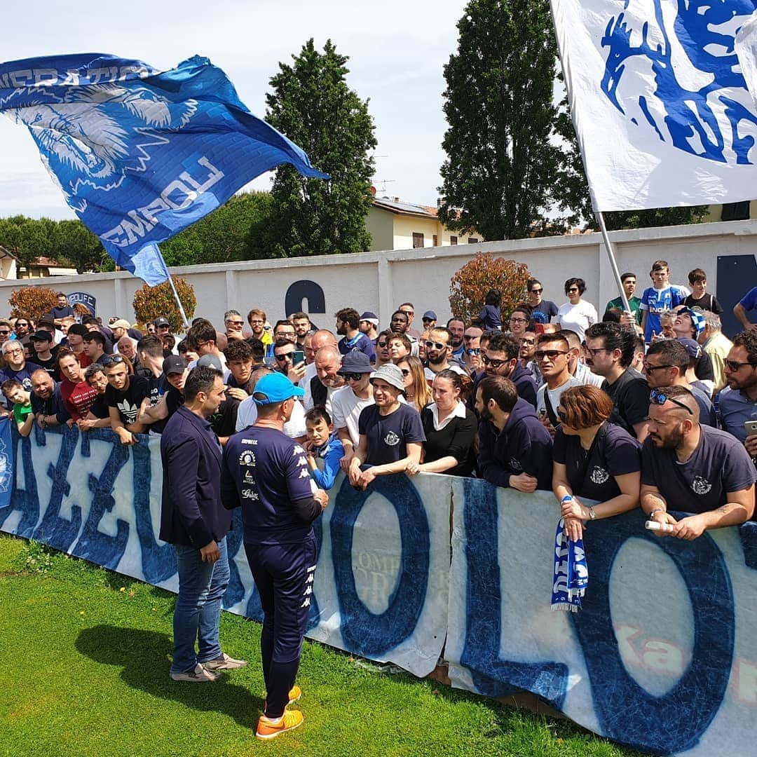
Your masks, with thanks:
M 269 257 L 366 251 L 373 175 L 368 151 L 376 145 L 368 101 L 347 87 L 348 58 L 331 40 L 319 53 L 310 39 L 292 59 L 292 65 L 280 63 L 270 80 L 266 120 L 331 180 L 305 179 L 291 166 L 279 166 Z

